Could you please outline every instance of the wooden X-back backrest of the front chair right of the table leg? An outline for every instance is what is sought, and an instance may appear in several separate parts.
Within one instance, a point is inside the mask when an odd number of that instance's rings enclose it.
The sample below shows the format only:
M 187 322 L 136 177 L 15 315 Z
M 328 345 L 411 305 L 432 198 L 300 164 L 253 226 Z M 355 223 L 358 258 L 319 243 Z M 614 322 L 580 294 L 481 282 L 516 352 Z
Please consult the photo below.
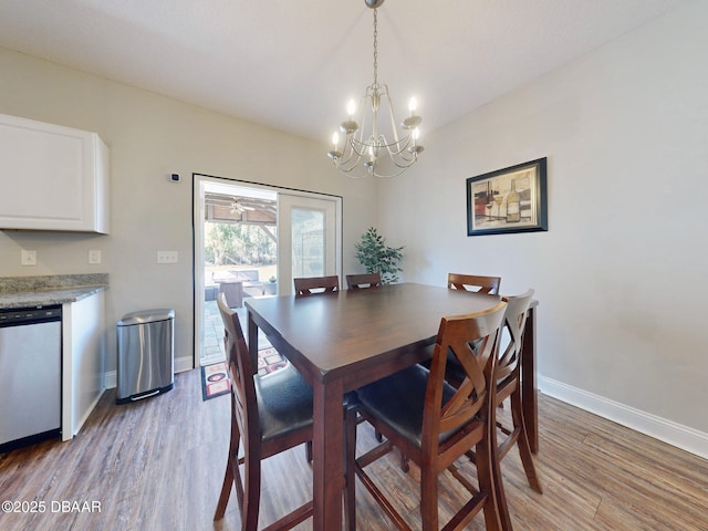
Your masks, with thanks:
M 440 321 L 423 414 L 423 451 L 436 455 L 440 444 L 461 448 L 465 439 L 475 436 L 473 430 L 459 428 L 472 421 L 479 421 L 480 426 L 487 423 L 491 407 L 489 396 L 493 392 L 490 382 L 506 309 L 507 303 L 499 302 L 485 312 Z M 476 350 L 472 343 L 477 345 Z M 466 374 L 458 388 L 445 382 L 448 355 L 456 358 Z

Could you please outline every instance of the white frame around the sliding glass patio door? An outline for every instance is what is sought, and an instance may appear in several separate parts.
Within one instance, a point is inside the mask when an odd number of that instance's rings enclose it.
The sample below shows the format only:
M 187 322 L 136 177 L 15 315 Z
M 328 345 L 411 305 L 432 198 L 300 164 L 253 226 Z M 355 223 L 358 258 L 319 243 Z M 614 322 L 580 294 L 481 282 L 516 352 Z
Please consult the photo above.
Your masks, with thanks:
M 288 188 L 283 186 L 254 183 L 243 179 L 211 176 L 207 174 L 194 173 L 192 177 L 192 283 L 194 283 L 194 367 L 200 366 L 201 353 L 204 351 L 205 337 L 205 197 L 204 186 L 206 183 L 220 185 L 233 185 L 241 188 L 253 188 L 269 190 L 275 194 L 287 194 L 289 196 L 301 196 L 320 200 L 333 201 L 335 206 L 335 269 L 342 282 L 342 260 L 343 260 L 343 197 L 332 194 L 321 194 L 316 191 Z M 279 252 L 280 254 L 280 252 Z M 280 282 L 280 280 L 279 280 Z M 279 287 L 280 288 L 280 287 Z M 246 325 L 246 323 L 243 323 Z

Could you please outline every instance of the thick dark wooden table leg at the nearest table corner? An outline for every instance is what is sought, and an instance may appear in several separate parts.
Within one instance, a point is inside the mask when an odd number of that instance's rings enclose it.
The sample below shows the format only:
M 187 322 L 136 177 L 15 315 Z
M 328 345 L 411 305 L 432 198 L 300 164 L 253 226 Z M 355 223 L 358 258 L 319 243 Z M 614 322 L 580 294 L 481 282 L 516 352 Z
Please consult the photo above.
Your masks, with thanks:
M 342 529 L 344 423 L 342 383 L 313 385 L 312 490 L 314 531 Z

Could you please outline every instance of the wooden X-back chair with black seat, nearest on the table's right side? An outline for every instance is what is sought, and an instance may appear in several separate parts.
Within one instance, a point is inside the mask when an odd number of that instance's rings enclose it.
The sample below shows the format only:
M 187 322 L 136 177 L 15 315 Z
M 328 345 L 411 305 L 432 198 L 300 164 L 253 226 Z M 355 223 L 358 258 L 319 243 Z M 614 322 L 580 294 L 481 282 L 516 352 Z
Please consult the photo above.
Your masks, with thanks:
M 438 530 L 438 481 L 445 470 L 449 470 L 470 492 L 470 498 L 445 529 L 465 529 L 480 511 L 483 511 L 489 531 L 501 529 L 493 487 L 490 427 L 494 412 L 490 397 L 506 306 L 506 302 L 499 302 L 485 312 L 442 317 L 429 371 L 416 364 L 356 391 L 360 415 L 386 440 L 355 459 L 355 473 L 397 529 L 410 528 L 365 470 L 394 447 L 420 467 L 424 531 Z M 475 353 L 470 342 L 477 340 L 481 341 Z M 448 352 L 467 373 L 459 388 L 445 382 Z M 476 449 L 476 487 L 455 466 L 455 461 L 472 447 Z

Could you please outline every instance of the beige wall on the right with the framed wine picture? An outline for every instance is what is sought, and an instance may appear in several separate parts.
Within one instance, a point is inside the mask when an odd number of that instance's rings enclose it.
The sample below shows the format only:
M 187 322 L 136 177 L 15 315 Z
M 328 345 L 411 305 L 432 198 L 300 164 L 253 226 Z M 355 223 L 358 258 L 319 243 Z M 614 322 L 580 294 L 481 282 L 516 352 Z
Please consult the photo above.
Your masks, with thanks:
M 545 392 L 706 456 L 707 18 L 686 2 L 428 136 L 379 204 L 406 280 L 537 290 Z M 540 157 L 550 230 L 467 237 L 465 179 Z

